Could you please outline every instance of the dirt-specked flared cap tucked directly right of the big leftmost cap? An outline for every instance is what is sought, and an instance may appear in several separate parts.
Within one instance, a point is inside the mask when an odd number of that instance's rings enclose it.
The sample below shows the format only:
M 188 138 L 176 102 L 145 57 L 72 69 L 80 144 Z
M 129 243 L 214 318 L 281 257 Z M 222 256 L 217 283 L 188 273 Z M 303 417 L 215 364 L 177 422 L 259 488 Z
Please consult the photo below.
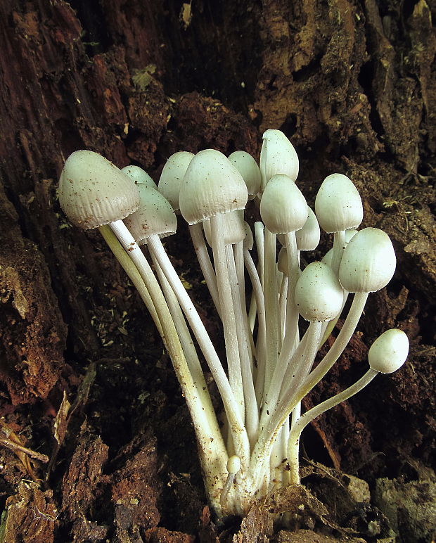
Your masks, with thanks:
M 171 236 L 177 230 L 177 217 L 171 204 L 153 187 L 136 185 L 139 191 L 139 209 L 124 219 L 137 243 L 157 234 L 160 238 Z

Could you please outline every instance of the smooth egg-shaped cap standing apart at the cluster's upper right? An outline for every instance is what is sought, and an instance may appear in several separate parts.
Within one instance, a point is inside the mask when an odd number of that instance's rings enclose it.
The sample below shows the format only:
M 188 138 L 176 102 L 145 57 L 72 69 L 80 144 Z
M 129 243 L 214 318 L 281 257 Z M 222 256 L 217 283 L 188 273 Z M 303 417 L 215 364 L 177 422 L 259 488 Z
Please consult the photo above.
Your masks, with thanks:
M 357 228 L 364 217 L 361 198 L 346 175 L 331 174 L 323 180 L 315 198 L 319 225 L 328 234 Z

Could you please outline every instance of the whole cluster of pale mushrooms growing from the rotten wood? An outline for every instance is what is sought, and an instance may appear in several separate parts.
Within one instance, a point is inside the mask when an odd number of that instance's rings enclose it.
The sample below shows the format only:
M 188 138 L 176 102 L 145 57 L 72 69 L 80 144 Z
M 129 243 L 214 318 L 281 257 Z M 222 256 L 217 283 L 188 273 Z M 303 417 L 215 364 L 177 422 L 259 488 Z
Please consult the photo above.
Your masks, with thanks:
M 302 398 L 345 350 L 368 294 L 387 285 L 396 260 L 383 231 L 357 231 L 363 208 L 348 177 L 324 179 L 314 212 L 295 183 L 298 169 L 292 143 L 267 130 L 259 165 L 245 151 L 229 158 L 213 149 L 180 151 L 169 157 L 156 186 L 138 166 L 120 170 L 97 153 L 76 151 L 60 175 L 63 211 L 75 226 L 101 231 L 162 336 L 191 413 L 217 516 L 244 515 L 253 499 L 300 484 L 304 427 L 378 373 L 397 370 L 409 351 L 403 331 L 386 331 L 371 346 L 369 369 L 357 383 L 302 414 Z M 262 217 L 254 232 L 244 221 L 252 198 L 259 200 Z M 162 245 L 161 238 L 176 232 L 177 214 L 189 225 L 222 322 L 225 361 Z M 333 248 L 301 269 L 300 253 L 316 248 L 320 227 L 333 234 Z M 340 332 L 315 365 L 350 293 Z M 223 414 L 212 405 L 202 361 Z

